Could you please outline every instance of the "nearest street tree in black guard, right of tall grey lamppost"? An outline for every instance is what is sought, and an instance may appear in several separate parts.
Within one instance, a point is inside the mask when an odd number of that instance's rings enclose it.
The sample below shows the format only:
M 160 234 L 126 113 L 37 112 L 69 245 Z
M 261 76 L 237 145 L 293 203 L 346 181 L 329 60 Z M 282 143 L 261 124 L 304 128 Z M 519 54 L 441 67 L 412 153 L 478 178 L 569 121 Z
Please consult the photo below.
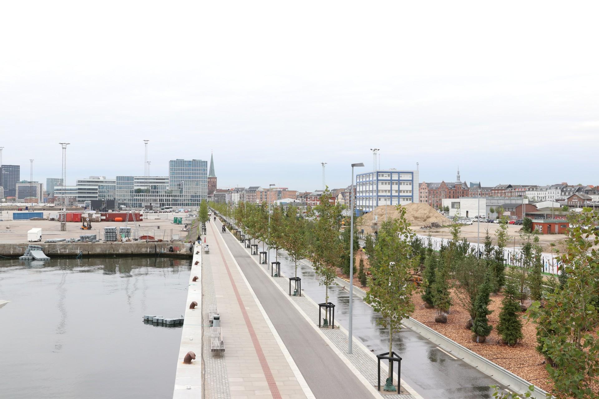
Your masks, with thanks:
M 380 312 L 377 323 L 389 329 L 389 354 L 393 350 L 393 334 L 400 331 L 401 321 L 414 310 L 410 295 L 415 290 L 412 284 L 412 269 L 416 260 L 412 256 L 409 239 L 413 236 L 406 220 L 406 209 L 398 206 L 399 217 L 383 222 L 374 251 L 379 267 L 372 269 L 373 278 L 365 301 Z M 396 391 L 393 386 L 391 367 L 385 391 Z

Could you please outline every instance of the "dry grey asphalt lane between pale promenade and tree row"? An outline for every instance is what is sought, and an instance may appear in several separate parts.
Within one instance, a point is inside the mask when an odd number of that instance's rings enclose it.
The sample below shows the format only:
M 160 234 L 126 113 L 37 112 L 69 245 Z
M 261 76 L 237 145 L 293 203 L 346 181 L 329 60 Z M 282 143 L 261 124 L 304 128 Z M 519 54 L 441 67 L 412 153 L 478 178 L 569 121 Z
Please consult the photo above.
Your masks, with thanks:
M 216 226 L 217 234 L 220 234 L 220 222 Z M 371 398 L 372 394 L 326 345 L 279 288 L 258 269 L 255 261 L 237 240 L 229 233 L 222 234 L 222 237 L 314 396 L 317 399 Z

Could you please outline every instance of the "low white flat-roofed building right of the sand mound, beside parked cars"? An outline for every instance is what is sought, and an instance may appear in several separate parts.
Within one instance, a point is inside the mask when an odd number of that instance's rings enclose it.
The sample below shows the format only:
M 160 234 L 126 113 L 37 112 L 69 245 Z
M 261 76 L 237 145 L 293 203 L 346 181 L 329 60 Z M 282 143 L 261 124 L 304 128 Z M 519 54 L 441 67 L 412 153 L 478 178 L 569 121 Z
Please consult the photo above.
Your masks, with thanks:
M 449 206 L 449 217 L 455 217 L 459 213 L 460 217 L 473 218 L 480 215 L 485 218 L 496 218 L 496 209 L 504 204 L 522 205 L 529 203 L 524 197 L 461 197 L 445 198 L 443 206 Z M 493 208 L 494 212 L 491 212 Z

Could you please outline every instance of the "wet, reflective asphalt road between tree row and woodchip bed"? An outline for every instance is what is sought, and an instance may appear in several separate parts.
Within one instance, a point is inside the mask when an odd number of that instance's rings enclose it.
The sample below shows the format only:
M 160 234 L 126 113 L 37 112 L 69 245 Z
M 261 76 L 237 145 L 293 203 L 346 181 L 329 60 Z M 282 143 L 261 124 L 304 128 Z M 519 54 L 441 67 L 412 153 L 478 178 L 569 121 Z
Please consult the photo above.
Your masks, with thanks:
M 229 245 L 232 252 L 235 248 L 234 255 L 239 254 L 246 258 L 250 257 L 235 242 L 231 234 L 225 235 L 227 236 L 226 239 L 230 239 L 227 242 L 234 243 L 234 245 Z M 262 248 L 261 244 L 259 248 Z M 274 260 L 274 251 L 271 251 L 270 257 L 271 261 Z M 294 264 L 289 257 L 279 253 L 278 259 L 281 262 L 281 274 L 283 276 L 294 276 Z M 248 261 L 251 260 L 248 259 Z M 259 270 L 254 271 L 259 272 Z M 263 272 L 259 273 L 265 277 Z M 307 296 L 316 302 L 324 300 L 325 288 L 319 285 L 318 277 L 310 266 L 298 265 L 298 276 L 302 279 L 302 290 Z M 251 281 L 250 284 L 254 287 Z M 337 285 L 331 286 L 329 287 L 329 300 L 336 305 L 335 323 L 338 322 L 347 328 L 349 293 Z M 276 312 L 278 306 L 274 306 L 274 308 Z M 271 316 L 270 313 L 268 315 Z M 372 307 L 368 306 L 360 297 L 354 295 L 353 336 L 361 340 L 368 349 L 373 350 L 376 354 L 388 352 L 389 350 L 389 331 L 376 325 L 376 319 L 379 317 L 380 315 L 374 312 Z M 497 381 L 464 361 L 450 357 L 440 351 L 437 345 L 409 328 L 394 335 L 393 350 L 403 358 L 401 378 L 425 399 L 491 399 L 493 390 L 489 386 L 500 385 Z

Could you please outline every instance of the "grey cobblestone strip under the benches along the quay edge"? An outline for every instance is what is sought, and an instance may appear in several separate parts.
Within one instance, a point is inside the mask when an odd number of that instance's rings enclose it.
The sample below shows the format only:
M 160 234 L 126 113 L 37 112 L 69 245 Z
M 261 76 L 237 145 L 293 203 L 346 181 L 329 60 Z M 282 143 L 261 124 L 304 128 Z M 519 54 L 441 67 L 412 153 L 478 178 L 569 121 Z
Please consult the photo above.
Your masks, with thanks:
M 210 255 L 204 257 L 202 264 L 202 322 L 208 324 L 208 309 L 211 305 L 217 305 L 214 293 L 214 280 L 212 278 L 212 266 Z M 214 399 L 230 399 L 229 379 L 226 373 L 225 357 L 213 354 L 210 350 L 210 328 L 204 327 L 204 346 L 202 348 L 204 358 L 204 387 L 205 397 Z

